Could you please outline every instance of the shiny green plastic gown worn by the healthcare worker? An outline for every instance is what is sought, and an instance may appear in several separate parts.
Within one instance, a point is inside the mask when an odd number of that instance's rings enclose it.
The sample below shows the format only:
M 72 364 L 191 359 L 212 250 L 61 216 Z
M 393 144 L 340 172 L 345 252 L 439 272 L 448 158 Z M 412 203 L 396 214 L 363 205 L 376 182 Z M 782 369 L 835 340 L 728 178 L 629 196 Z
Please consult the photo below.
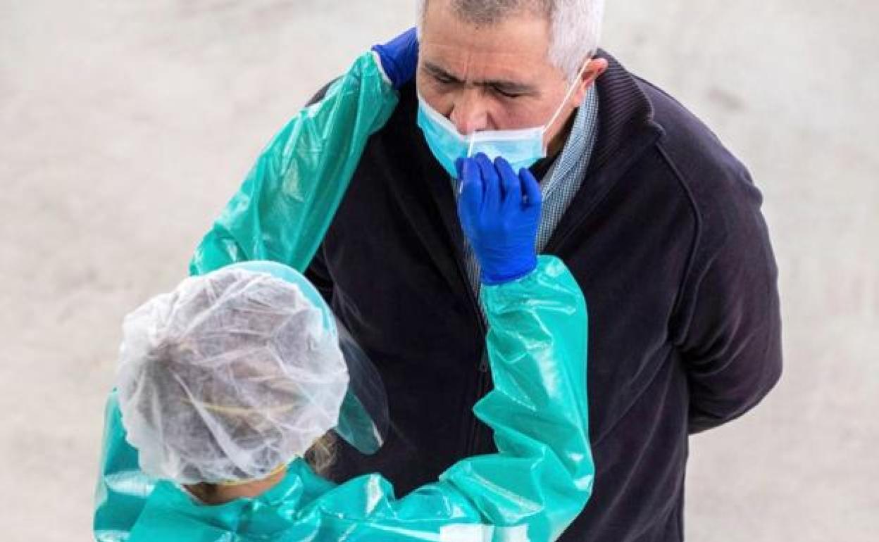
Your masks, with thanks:
M 396 94 L 365 54 L 320 103 L 293 119 L 197 249 L 191 271 L 274 259 L 304 270 L 370 134 Z M 101 542 L 555 540 L 592 493 L 586 307 L 564 264 L 542 256 L 527 277 L 483 287 L 494 389 L 476 403 L 498 453 L 463 459 L 396 498 L 378 474 L 337 485 L 301 459 L 253 499 L 218 506 L 142 473 L 115 394 L 107 404 L 95 536 Z M 437 408 L 443 408 L 437 405 Z

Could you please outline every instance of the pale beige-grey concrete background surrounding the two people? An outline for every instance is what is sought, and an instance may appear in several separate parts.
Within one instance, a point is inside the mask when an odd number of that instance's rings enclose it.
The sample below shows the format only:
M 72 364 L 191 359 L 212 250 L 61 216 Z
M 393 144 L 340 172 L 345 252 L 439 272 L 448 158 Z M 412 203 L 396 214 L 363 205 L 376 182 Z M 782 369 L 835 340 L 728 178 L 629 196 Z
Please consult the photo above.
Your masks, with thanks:
M 412 2 L 0 0 L 0 528 L 87 540 L 120 320 L 259 149 Z M 786 372 L 691 439 L 687 538 L 879 539 L 874 0 L 607 3 L 603 44 L 749 165 Z

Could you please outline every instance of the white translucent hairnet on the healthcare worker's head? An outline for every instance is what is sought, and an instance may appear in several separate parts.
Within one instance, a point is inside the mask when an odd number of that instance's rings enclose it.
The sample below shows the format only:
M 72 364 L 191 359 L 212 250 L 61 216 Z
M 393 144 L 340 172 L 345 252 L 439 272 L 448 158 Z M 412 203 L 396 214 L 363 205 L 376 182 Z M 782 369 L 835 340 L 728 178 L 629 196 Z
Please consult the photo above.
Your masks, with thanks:
M 297 285 L 220 270 L 127 315 L 117 387 L 145 473 L 217 483 L 304 454 L 336 426 L 348 372 Z

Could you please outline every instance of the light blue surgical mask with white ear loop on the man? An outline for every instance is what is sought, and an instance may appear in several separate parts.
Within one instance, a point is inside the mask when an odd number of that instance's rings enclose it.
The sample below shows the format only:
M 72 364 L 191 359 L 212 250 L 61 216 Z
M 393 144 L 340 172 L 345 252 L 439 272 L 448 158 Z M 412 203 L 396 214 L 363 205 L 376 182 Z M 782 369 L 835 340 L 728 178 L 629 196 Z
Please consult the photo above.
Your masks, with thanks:
M 583 65 L 585 69 L 586 64 Z M 580 73 L 583 73 L 583 69 Z M 579 81 L 580 76 L 575 81 Z M 552 126 L 562 108 L 568 103 L 571 93 L 576 89 L 571 85 L 568 93 L 558 106 L 549 122 L 543 126 L 519 130 L 483 130 L 463 135 L 458 132 L 451 120 L 429 105 L 418 94 L 418 126 L 425 134 L 427 146 L 449 175 L 458 177 L 454 163 L 458 158 L 484 153 L 491 160 L 503 156 L 510 163 L 513 171 L 530 168 L 541 158 L 546 157 L 543 146 L 543 135 Z

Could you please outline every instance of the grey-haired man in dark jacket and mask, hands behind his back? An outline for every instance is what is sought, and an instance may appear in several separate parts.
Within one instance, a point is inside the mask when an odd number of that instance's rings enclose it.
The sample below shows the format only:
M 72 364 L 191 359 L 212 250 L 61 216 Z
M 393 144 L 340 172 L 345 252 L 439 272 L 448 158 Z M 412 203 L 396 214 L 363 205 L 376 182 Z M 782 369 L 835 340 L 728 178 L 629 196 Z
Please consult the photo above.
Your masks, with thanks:
M 589 305 L 596 479 L 561 539 L 681 540 L 688 435 L 743 415 L 779 378 L 760 194 L 698 119 L 597 49 L 602 4 L 418 3 L 416 82 L 309 269 L 378 365 L 393 423 L 374 456 L 340 444 L 337 480 L 377 471 L 405 493 L 494 449 L 471 410 L 491 382 L 482 270 L 456 215 L 461 153 L 509 153 L 541 179 L 537 249 L 563 259 Z

